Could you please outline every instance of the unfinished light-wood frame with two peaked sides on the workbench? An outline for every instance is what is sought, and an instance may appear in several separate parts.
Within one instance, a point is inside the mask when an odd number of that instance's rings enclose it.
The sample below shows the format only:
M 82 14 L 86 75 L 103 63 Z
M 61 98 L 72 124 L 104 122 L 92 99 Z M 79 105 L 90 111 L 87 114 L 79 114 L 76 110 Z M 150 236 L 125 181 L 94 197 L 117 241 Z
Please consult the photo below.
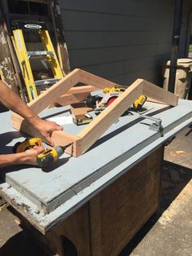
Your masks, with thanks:
M 114 82 L 107 81 L 102 77 L 95 76 L 92 73 L 85 72 L 81 69 L 74 69 L 62 80 L 51 86 L 46 92 L 39 95 L 28 106 L 33 109 L 35 113 L 41 113 L 47 108 L 50 103 L 55 102 L 60 95 L 67 95 L 78 93 L 78 90 L 86 91 L 86 88 L 80 89 L 75 86 L 78 82 L 88 84 L 88 91 L 94 88 L 103 89 L 105 87 L 116 86 Z M 94 86 L 94 87 L 93 87 Z M 73 88 L 72 88 L 73 87 Z M 89 125 L 85 126 L 78 135 L 71 135 L 63 130 L 53 132 L 53 139 L 55 145 L 65 145 L 72 143 L 66 152 L 74 157 L 81 156 L 86 152 L 94 142 L 119 118 L 125 110 L 127 110 L 140 95 L 146 95 L 151 98 L 151 101 L 176 106 L 178 103 L 178 96 L 171 92 L 155 86 L 151 82 L 143 79 L 137 79 L 127 90 L 124 91 L 112 104 L 110 104 L 98 117 L 94 118 Z M 37 130 L 28 126 L 27 121 L 16 113 L 12 113 L 12 125 L 15 129 L 21 130 L 24 133 L 41 137 Z

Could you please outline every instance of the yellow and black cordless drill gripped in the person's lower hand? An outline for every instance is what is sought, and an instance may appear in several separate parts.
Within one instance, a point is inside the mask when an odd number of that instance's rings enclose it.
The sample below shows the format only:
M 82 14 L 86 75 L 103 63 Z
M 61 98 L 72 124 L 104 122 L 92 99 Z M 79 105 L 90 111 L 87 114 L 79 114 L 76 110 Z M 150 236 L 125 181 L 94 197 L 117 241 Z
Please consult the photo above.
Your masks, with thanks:
M 48 166 L 51 162 L 57 161 L 61 157 L 66 148 L 71 146 L 72 143 L 68 143 L 65 146 L 57 146 L 55 148 L 45 148 L 44 152 L 41 152 L 37 156 L 37 165 L 41 167 Z M 13 147 L 13 152 L 19 153 L 24 152 L 35 146 L 43 146 L 40 138 L 25 139 L 24 142 L 15 143 Z

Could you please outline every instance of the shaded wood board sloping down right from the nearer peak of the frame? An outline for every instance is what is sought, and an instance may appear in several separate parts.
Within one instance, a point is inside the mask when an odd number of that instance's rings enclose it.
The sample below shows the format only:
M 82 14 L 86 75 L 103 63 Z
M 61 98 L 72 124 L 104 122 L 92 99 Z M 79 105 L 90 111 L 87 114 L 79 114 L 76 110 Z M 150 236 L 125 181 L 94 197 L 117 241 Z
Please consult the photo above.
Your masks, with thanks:
M 178 95 L 174 95 L 170 91 L 164 90 L 159 86 L 155 86 L 153 83 L 146 80 L 143 81 L 142 93 L 143 95 L 149 96 L 152 99 L 164 102 L 164 104 L 168 104 L 171 106 L 177 106 L 178 104 Z

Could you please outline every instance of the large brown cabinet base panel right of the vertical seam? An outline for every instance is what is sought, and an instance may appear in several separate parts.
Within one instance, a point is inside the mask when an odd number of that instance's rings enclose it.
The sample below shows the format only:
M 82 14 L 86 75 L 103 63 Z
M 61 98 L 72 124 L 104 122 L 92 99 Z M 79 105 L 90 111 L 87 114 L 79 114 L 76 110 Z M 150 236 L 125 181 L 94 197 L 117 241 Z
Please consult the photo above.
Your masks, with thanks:
M 159 207 L 164 148 L 159 148 L 89 201 L 91 255 L 120 254 Z

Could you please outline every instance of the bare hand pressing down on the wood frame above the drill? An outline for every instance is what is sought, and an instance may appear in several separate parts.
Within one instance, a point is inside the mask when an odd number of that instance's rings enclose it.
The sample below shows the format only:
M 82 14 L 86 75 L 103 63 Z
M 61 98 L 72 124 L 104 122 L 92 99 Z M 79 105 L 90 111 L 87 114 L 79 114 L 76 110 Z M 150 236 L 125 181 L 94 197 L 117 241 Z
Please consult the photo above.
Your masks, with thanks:
M 51 138 L 53 131 L 62 130 L 62 127 L 57 125 L 54 121 L 46 121 L 40 119 L 38 123 L 34 126 L 41 135 L 46 139 L 51 146 L 54 146 L 54 140 Z

